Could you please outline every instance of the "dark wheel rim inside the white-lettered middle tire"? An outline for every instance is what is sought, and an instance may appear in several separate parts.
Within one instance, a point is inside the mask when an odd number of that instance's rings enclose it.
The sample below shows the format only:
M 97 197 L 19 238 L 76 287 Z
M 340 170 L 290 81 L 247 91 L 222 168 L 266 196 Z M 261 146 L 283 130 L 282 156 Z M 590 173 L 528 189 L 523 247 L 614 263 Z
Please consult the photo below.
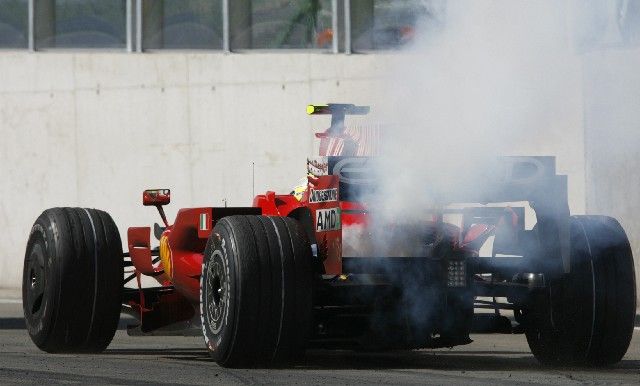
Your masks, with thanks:
M 207 316 L 211 332 L 222 329 L 229 308 L 229 276 L 227 265 L 220 251 L 214 251 L 207 272 Z

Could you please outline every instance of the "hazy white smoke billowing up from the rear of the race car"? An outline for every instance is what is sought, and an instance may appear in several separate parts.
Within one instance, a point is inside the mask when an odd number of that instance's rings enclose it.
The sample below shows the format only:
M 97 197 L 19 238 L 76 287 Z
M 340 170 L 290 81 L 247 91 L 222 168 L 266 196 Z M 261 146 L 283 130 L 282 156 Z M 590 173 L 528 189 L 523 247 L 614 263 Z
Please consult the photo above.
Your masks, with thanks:
M 557 173 L 569 175 L 574 214 L 587 209 L 590 189 L 613 197 L 609 185 L 629 190 L 620 181 L 638 174 L 624 164 L 638 164 L 640 146 L 640 99 L 629 102 L 640 95 L 633 65 L 640 65 L 640 49 L 629 47 L 640 41 L 640 6 L 606 0 L 425 4 L 429 12 L 416 38 L 394 55 L 372 111 L 373 121 L 384 122 L 377 190 L 362 197 L 372 224 L 344 229 L 345 256 L 424 256 L 420 248 L 434 236 L 419 231 L 428 212 L 499 180 L 498 156 L 556 156 Z M 637 212 L 637 205 L 625 205 Z M 619 217 L 612 209 L 600 213 Z M 527 220 L 531 229 L 535 218 Z M 636 223 L 628 221 L 632 229 Z M 402 282 L 410 318 L 424 320 L 431 311 L 424 287 L 405 276 Z

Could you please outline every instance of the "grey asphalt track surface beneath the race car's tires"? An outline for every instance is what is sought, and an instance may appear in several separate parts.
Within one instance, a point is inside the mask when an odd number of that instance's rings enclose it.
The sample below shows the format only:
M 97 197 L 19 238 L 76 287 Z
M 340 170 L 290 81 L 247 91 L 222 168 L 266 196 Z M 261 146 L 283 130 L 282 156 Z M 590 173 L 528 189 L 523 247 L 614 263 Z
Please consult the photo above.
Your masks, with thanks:
M 39 351 L 19 317 L 0 316 L 0 384 L 640 384 L 640 328 L 611 368 L 545 368 L 523 335 L 473 335 L 453 349 L 387 353 L 309 351 L 284 369 L 225 369 L 200 337 L 130 337 L 99 355 Z

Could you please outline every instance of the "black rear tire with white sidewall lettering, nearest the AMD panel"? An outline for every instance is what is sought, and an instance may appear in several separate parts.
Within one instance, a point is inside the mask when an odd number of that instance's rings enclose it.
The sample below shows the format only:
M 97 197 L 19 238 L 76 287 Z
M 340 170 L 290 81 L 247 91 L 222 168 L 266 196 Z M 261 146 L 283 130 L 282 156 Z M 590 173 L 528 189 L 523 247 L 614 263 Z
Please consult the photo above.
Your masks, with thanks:
M 225 367 L 278 366 L 305 347 L 312 257 L 297 221 L 229 216 L 205 248 L 200 314 L 211 357 Z

